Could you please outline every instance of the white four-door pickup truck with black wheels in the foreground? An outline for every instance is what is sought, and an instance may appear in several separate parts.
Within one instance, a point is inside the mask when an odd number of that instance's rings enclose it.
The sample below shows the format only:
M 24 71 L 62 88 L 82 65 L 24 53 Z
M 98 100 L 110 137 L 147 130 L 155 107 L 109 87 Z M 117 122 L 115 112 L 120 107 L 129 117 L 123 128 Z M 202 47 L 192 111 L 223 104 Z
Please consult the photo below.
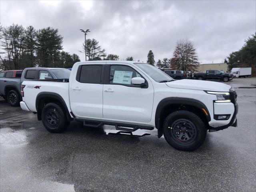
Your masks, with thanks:
M 229 85 L 173 80 L 154 66 L 131 61 L 74 64 L 70 78 L 22 83 L 23 110 L 37 113 L 45 128 L 63 132 L 70 121 L 117 130 L 158 129 L 178 150 L 195 150 L 206 132 L 236 126 L 236 92 Z

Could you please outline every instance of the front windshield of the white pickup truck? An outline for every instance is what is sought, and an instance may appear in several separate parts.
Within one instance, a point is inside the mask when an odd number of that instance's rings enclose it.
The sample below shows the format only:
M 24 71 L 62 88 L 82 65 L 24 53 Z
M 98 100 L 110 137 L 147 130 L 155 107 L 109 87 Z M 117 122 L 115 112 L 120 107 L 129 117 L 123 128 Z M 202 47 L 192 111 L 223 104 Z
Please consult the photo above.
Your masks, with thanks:
M 173 79 L 168 76 L 165 72 L 161 71 L 160 69 L 147 64 L 147 63 L 135 63 L 138 68 L 143 70 L 146 74 L 148 74 L 152 79 L 156 82 L 168 82 L 172 81 Z

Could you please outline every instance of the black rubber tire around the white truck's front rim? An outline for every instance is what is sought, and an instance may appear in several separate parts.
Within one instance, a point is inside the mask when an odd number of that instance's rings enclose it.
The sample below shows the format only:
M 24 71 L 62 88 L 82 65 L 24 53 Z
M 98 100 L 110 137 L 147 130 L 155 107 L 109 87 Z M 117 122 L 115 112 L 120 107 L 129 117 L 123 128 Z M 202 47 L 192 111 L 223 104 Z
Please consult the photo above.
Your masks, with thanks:
M 171 133 L 172 131 L 174 132 L 175 129 L 175 127 L 172 128 L 172 124 L 180 119 L 188 120 L 194 124 L 196 134 L 194 135 L 194 140 L 191 140 L 190 143 L 178 142 L 177 138 L 174 138 L 173 134 Z M 204 122 L 196 114 L 190 111 L 180 110 L 172 112 L 166 117 L 163 124 L 163 134 L 168 144 L 170 144 L 170 146 L 173 148 L 182 151 L 192 151 L 198 149 L 204 143 L 206 137 L 206 128 Z

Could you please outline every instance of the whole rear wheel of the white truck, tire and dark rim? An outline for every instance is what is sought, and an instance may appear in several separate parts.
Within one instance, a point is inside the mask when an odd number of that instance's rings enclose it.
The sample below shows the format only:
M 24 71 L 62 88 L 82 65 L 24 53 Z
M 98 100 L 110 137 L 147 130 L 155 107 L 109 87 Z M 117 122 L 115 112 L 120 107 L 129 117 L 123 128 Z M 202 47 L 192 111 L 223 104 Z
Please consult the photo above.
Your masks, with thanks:
M 62 108 L 56 103 L 48 103 L 42 110 L 42 122 L 44 127 L 52 133 L 61 133 L 69 125 Z

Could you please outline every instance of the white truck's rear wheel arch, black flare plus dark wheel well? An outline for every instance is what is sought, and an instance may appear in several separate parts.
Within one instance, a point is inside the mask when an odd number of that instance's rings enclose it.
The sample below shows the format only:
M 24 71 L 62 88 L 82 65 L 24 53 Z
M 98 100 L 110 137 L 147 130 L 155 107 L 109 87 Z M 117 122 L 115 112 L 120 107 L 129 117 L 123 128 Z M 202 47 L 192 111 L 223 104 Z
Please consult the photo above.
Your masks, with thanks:
M 51 102 L 58 104 L 62 108 L 69 121 L 73 120 L 73 117 L 70 115 L 66 102 L 62 96 L 52 92 L 41 92 L 36 96 L 36 111 L 38 120 L 41 120 L 41 114 L 44 105 Z

